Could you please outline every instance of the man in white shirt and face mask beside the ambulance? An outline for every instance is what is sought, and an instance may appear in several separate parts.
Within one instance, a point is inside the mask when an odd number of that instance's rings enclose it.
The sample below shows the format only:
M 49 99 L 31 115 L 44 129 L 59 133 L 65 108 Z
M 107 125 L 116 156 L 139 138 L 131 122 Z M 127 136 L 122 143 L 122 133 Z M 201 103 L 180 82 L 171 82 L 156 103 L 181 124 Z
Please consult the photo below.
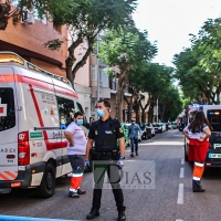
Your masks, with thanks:
M 81 190 L 84 173 L 84 157 L 86 150 L 86 136 L 81 125 L 83 124 L 83 114 L 76 112 L 73 122 L 67 126 L 64 135 L 69 141 L 67 156 L 72 166 L 72 178 L 69 197 L 80 198 L 80 194 L 85 194 L 85 190 Z

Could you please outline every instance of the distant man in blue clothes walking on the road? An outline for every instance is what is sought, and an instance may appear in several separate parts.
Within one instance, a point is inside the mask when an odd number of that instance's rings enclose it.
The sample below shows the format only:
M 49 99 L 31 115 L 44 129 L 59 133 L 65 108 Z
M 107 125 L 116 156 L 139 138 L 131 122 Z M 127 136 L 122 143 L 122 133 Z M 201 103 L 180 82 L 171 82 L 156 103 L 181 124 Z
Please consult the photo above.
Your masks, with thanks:
M 136 124 L 136 119 L 131 118 L 131 125 L 129 126 L 129 139 L 130 139 L 130 148 L 131 154 L 130 157 L 134 157 L 134 152 L 136 151 L 136 156 L 138 156 L 138 133 L 143 134 L 139 125 Z M 135 146 L 135 148 L 134 148 Z

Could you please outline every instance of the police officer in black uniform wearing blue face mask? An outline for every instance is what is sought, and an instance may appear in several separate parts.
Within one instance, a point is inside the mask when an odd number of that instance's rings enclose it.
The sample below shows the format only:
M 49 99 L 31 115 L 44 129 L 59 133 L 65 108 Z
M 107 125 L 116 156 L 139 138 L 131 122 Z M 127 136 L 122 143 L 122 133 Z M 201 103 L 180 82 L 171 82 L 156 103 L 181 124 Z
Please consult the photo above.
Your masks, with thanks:
M 112 185 L 112 190 L 115 197 L 116 207 L 118 211 L 118 221 L 125 221 L 125 206 L 124 196 L 119 181 L 119 169 L 124 166 L 125 143 L 124 133 L 118 119 L 113 119 L 109 115 L 110 104 L 106 99 L 101 99 L 96 105 L 97 115 L 101 117 L 94 122 L 90 128 L 88 141 L 86 147 L 85 166 L 90 166 L 88 156 L 93 160 L 107 160 L 107 175 Z M 119 151 L 117 150 L 117 139 L 119 144 Z M 93 148 L 94 143 L 94 148 Z M 93 148 L 93 149 L 92 149 Z M 93 151 L 92 151 L 93 150 Z M 96 162 L 95 162 L 96 164 Z M 98 172 L 98 175 L 97 175 Z M 102 171 L 103 172 L 103 171 Z M 101 170 L 94 170 L 94 181 L 101 177 Z M 92 220 L 99 215 L 102 187 L 104 182 L 94 186 L 92 210 L 86 219 Z

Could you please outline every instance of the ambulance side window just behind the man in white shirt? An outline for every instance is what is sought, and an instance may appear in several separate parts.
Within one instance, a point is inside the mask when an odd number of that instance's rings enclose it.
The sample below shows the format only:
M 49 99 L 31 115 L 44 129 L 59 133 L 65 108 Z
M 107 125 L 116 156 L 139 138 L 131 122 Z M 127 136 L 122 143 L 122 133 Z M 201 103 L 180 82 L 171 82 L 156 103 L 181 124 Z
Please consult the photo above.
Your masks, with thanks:
M 66 129 L 67 125 L 73 122 L 75 113 L 74 102 L 59 96 L 56 97 L 56 101 L 60 116 L 60 128 Z

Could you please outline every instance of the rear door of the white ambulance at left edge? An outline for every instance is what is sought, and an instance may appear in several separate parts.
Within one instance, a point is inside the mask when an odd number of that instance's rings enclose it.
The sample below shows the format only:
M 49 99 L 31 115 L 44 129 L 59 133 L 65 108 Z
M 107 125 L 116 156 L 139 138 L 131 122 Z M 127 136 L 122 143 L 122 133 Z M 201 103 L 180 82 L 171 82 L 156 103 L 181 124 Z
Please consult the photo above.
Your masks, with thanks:
M 0 187 L 18 177 L 18 110 L 14 70 L 0 65 Z

